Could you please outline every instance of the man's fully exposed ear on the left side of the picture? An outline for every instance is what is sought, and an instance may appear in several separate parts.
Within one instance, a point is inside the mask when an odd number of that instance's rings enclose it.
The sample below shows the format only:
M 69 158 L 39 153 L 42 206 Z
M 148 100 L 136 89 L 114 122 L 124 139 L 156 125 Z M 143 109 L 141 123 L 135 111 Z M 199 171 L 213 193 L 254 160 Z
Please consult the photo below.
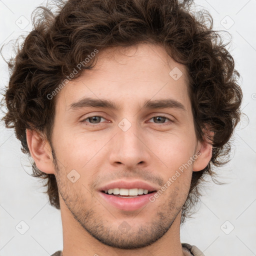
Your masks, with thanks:
M 54 173 L 53 158 L 49 142 L 35 130 L 26 129 L 26 142 L 36 167 L 45 173 Z

